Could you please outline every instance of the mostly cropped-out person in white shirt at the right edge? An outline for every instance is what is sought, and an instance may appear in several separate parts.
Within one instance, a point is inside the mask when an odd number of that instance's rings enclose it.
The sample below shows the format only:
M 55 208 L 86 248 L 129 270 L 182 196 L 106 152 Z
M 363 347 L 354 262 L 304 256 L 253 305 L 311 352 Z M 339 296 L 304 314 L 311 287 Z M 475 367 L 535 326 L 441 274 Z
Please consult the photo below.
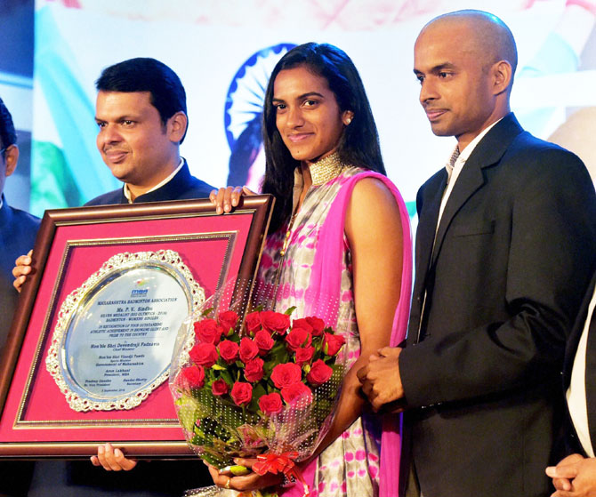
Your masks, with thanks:
M 585 294 L 565 351 L 563 391 L 568 405 L 566 453 L 546 469 L 553 497 L 596 495 L 596 275 Z

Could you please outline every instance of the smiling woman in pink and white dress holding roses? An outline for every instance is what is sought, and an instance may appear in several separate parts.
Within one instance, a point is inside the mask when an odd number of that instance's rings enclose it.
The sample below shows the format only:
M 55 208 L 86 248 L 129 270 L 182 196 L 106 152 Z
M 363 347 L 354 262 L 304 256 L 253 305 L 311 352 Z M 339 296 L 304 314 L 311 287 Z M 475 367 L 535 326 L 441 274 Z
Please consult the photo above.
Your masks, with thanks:
M 350 370 L 334 421 L 302 473 L 310 495 L 394 495 L 399 418 L 366 412 L 356 372 L 378 349 L 405 338 L 409 218 L 384 175 L 375 121 L 350 58 L 329 44 L 302 44 L 287 52 L 270 77 L 264 128 L 262 192 L 275 196 L 276 204 L 260 278 L 275 286 L 278 309 L 296 306 L 296 316 L 308 316 L 331 297 L 342 315 L 355 317 L 345 332 Z M 212 199 L 229 210 L 238 196 L 238 189 L 228 188 Z M 211 471 L 216 485 L 230 489 L 282 483 L 273 475 Z M 294 485 L 279 492 L 299 496 L 303 489 Z

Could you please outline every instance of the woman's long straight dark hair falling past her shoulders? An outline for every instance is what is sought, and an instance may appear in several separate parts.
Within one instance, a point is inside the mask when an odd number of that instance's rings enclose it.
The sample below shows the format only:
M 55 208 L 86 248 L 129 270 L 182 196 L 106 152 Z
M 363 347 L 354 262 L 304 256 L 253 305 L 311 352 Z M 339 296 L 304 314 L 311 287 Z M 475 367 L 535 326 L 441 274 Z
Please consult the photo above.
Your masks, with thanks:
M 273 85 L 284 69 L 305 67 L 314 75 L 324 77 L 334 93 L 340 111 L 351 110 L 354 116 L 343 130 L 337 151 L 344 164 L 358 165 L 386 174 L 376 131 L 375 118 L 366 98 L 364 85 L 350 57 L 332 44 L 301 44 L 286 53 L 271 73 L 263 112 L 263 144 L 265 147 L 265 178 L 262 192 L 275 196 L 276 204 L 270 223 L 270 233 L 280 228 L 292 215 L 294 160 L 286 148 L 276 125 L 273 107 Z

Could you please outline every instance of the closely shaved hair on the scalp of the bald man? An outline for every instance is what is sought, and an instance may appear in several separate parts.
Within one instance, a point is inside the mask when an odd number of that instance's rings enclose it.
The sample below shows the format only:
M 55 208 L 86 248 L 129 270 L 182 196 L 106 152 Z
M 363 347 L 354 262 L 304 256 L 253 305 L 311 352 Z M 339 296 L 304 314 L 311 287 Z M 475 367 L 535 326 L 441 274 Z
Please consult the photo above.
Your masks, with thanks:
M 467 44 L 463 50 L 475 52 L 483 66 L 489 67 L 499 60 L 507 60 L 512 72 L 518 65 L 518 49 L 511 29 L 495 14 L 475 10 L 449 12 L 431 20 L 420 36 L 434 28 L 465 29 Z

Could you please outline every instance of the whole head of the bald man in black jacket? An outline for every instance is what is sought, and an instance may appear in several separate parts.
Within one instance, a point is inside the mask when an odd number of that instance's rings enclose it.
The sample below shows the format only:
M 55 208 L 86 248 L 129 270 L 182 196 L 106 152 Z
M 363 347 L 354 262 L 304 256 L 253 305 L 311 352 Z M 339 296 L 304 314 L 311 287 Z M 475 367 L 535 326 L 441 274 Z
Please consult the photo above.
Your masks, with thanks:
M 424 26 L 414 72 L 432 132 L 455 136 L 463 150 L 507 115 L 517 59 L 510 29 L 493 14 L 451 12 Z

